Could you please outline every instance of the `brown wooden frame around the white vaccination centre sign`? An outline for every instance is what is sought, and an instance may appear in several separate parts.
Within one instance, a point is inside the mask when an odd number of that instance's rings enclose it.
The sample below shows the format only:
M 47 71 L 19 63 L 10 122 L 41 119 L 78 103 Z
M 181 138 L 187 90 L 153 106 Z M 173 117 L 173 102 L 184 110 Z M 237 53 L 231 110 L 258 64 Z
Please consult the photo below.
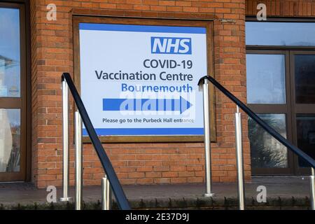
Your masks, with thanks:
M 130 15 L 128 15 L 130 13 Z M 173 13 L 172 13 L 173 14 Z M 80 22 L 87 23 L 109 23 L 123 25 L 162 25 L 162 26 L 191 26 L 205 27 L 207 29 L 207 71 L 211 76 L 214 74 L 214 22 L 211 19 L 202 18 L 196 15 L 195 19 L 182 18 L 176 19 L 172 16 L 169 18 L 136 18 L 130 11 L 125 11 L 125 15 L 112 16 L 90 16 L 90 15 L 73 15 L 73 58 L 74 58 L 74 82 L 80 92 L 80 43 L 79 29 Z M 216 101 L 214 86 L 209 86 L 209 106 L 211 120 L 211 141 L 216 142 Z M 74 108 L 74 105 L 73 105 Z M 203 135 L 183 135 L 183 136 L 100 136 L 102 143 L 145 143 L 145 142 L 203 142 Z M 89 137 L 83 137 L 83 143 L 90 143 Z

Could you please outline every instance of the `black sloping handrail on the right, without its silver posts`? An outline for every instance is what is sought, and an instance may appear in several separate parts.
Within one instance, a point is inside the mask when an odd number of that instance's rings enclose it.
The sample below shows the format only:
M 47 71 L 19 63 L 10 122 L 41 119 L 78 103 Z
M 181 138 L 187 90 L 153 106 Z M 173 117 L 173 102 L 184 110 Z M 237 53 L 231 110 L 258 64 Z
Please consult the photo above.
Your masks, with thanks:
M 218 83 L 216 79 L 214 79 L 211 76 L 204 76 L 200 78 L 198 81 L 198 85 L 204 84 L 204 79 L 209 80 L 214 86 L 218 88 L 225 96 L 227 96 L 229 99 L 232 100 L 232 102 L 235 102 L 237 106 L 239 106 L 249 117 L 251 117 L 253 120 L 255 120 L 258 125 L 260 125 L 266 132 L 272 135 L 276 140 L 278 140 L 283 146 L 286 146 L 291 151 L 299 155 L 301 158 L 303 158 L 311 167 L 315 168 L 315 160 L 313 160 L 309 155 L 304 153 L 300 148 L 297 148 L 293 144 L 291 144 L 287 139 L 281 136 L 276 130 L 274 130 L 272 127 L 270 127 L 265 121 L 263 121 L 261 118 L 259 118 L 251 109 L 248 108 L 244 103 L 242 103 L 235 95 L 233 95 L 229 90 L 225 89 L 223 85 Z

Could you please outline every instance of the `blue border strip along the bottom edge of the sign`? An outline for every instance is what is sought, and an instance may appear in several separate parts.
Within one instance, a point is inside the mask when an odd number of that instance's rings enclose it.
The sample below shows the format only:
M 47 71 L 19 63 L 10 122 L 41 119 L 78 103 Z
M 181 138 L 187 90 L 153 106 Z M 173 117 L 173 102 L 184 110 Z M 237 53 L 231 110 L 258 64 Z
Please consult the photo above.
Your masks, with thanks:
M 97 135 L 202 135 L 203 128 L 95 128 Z M 83 128 L 83 135 L 87 131 Z

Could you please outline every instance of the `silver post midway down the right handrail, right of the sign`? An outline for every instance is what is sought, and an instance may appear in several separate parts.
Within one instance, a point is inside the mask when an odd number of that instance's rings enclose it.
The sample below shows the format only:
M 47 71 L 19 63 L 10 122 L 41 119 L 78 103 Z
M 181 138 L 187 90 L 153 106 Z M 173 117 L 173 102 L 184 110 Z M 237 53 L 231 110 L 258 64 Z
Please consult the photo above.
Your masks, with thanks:
M 245 189 L 244 189 L 244 166 L 243 166 L 243 144 L 241 138 L 241 113 L 237 106 L 235 113 L 235 144 L 237 154 L 237 188 L 239 196 L 239 210 L 245 209 Z

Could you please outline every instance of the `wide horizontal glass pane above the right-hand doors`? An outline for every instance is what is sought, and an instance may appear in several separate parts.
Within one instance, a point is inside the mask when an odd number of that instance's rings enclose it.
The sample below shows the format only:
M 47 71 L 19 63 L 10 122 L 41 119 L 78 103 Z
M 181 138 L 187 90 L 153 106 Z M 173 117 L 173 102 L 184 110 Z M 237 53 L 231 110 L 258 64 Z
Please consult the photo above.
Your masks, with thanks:
M 246 22 L 246 45 L 315 45 L 314 22 Z

